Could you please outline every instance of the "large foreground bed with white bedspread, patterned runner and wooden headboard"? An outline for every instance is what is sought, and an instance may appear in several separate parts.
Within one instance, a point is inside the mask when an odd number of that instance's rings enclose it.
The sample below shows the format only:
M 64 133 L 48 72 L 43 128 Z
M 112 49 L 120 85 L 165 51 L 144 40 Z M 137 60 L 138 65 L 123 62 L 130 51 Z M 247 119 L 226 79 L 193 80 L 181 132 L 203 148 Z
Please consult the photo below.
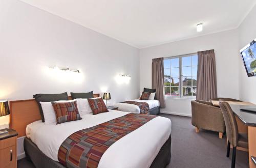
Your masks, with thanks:
M 45 124 L 34 99 L 10 107 L 10 127 L 26 136 L 26 157 L 36 167 L 165 167 L 170 161 L 167 118 L 109 110 Z

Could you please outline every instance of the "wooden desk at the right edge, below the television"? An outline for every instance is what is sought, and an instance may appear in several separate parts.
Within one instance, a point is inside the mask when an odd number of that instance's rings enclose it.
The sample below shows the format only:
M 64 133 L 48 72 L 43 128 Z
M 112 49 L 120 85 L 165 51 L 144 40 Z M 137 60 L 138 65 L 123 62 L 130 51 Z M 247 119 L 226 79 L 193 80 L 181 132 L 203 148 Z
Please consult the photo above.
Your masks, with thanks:
M 254 108 L 256 105 L 252 103 L 250 105 L 230 104 L 230 107 L 234 114 L 248 127 L 249 165 L 250 168 L 256 168 L 256 165 L 251 159 L 251 156 L 256 156 L 256 113 L 240 110 L 240 108 Z

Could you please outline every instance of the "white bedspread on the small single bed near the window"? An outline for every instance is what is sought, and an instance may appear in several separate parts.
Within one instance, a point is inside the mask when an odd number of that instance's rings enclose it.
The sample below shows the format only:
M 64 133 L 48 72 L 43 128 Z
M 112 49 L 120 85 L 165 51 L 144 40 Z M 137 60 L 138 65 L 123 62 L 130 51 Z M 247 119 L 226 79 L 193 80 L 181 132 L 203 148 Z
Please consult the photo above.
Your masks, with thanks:
M 160 105 L 159 100 L 140 100 L 135 99 L 131 101 L 138 101 L 138 102 L 146 102 L 150 109 L 155 108 Z M 118 110 L 120 111 L 127 111 L 131 113 L 140 113 L 140 107 L 134 104 L 127 104 L 127 103 L 117 103 L 114 106 L 118 107 Z

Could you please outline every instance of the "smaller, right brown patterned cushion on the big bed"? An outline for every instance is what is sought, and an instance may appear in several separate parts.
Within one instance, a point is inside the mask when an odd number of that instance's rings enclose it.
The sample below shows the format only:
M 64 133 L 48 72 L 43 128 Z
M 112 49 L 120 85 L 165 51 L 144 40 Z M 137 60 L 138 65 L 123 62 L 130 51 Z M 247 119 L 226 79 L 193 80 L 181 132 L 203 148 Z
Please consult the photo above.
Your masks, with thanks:
M 108 108 L 106 108 L 106 105 L 102 98 L 87 99 L 87 100 L 88 100 L 89 105 L 93 111 L 93 115 L 109 112 L 109 110 L 108 110 Z

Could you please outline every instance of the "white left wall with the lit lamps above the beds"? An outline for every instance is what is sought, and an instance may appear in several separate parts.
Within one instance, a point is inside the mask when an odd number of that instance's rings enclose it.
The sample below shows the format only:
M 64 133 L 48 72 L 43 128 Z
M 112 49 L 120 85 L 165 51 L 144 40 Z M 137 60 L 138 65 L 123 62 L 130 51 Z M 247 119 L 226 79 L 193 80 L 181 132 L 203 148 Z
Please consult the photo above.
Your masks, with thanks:
M 137 48 L 16 0 L 0 1 L 0 63 L 0 100 L 92 90 L 110 92 L 110 104 L 139 97 Z M 81 73 L 54 72 L 54 65 Z M 17 143 L 24 157 L 23 138 Z

